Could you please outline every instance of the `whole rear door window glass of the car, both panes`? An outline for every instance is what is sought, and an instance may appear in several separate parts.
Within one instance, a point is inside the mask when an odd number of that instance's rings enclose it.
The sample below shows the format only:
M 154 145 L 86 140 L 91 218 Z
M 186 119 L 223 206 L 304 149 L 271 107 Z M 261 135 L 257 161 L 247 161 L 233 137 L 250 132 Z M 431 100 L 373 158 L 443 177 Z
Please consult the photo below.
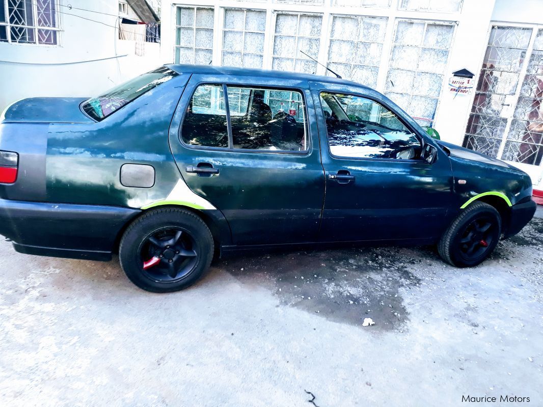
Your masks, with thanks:
M 203 84 L 195 90 L 181 126 L 181 138 L 186 144 L 307 151 L 306 114 L 300 91 L 227 86 L 225 100 L 223 88 Z

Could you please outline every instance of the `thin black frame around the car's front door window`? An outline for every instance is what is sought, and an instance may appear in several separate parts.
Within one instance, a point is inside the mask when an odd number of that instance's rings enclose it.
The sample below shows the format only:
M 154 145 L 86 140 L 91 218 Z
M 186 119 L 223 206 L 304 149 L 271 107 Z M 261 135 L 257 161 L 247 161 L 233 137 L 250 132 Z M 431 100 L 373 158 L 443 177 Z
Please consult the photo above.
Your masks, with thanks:
M 363 94 L 363 93 L 356 93 L 356 92 L 342 93 L 342 92 L 339 92 L 339 91 L 331 91 L 331 90 L 321 89 L 321 90 L 319 90 L 319 107 L 320 107 L 319 112 L 320 112 L 320 115 L 323 118 L 323 122 L 324 122 L 323 128 L 324 128 L 324 131 L 326 132 L 326 147 L 328 149 L 328 154 L 330 154 L 330 157 L 334 158 L 335 160 L 386 161 L 386 162 L 397 162 L 397 163 L 416 163 L 416 164 L 425 163 L 425 164 L 428 164 L 428 162 L 426 160 L 423 160 L 422 158 L 416 158 L 416 159 L 412 158 L 410 160 L 398 160 L 397 158 L 344 157 L 344 156 L 332 154 L 332 150 L 330 150 L 330 140 L 329 140 L 329 137 L 328 137 L 328 125 L 326 124 L 326 119 L 324 118 L 324 115 L 322 113 L 323 112 L 323 104 L 321 103 L 321 93 L 331 93 L 334 96 L 336 96 L 338 94 L 342 94 L 342 95 L 355 96 L 355 97 L 359 97 L 359 98 L 374 101 L 375 103 L 378 103 L 383 107 L 386 107 L 386 109 L 388 109 L 389 111 L 394 113 L 394 115 L 397 117 L 397 119 L 400 121 L 400 123 L 403 124 L 404 126 L 406 126 L 406 128 L 409 131 L 411 131 L 415 135 L 416 138 L 419 139 L 421 149 L 424 148 L 424 145 L 427 143 L 427 140 L 426 140 L 426 138 L 424 136 L 421 135 L 421 133 L 419 131 L 416 131 L 416 129 L 414 129 L 411 124 L 407 123 L 406 120 L 401 115 L 399 115 L 399 113 L 395 109 L 393 109 L 392 106 L 390 106 L 388 103 L 386 103 L 384 100 L 381 100 L 381 99 L 378 99 L 378 98 L 375 98 L 375 97 L 372 97 L 372 96 L 369 96 L 369 95 Z M 428 164 L 428 165 L 430 165 L 430 164 Z

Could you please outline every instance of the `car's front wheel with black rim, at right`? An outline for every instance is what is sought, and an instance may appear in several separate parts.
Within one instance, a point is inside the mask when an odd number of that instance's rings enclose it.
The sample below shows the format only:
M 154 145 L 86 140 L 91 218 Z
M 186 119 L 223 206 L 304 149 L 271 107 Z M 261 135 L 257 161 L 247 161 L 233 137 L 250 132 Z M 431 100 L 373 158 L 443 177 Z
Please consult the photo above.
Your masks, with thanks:
M 438 243 L 445 262 L 456 267 L 481 264 L 492 253 L 500 238 L 502 221 L 493 206 L 476 202 L 454 219 Z

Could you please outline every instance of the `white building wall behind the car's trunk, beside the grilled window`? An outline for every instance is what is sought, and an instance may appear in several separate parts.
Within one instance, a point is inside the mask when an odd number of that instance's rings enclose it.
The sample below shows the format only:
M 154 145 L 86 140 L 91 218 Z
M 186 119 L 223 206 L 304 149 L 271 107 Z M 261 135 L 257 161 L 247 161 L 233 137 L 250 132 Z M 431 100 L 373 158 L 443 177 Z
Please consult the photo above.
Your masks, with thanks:
M 94 96 L 159 66 L 160 44 L 137 56 L 134 41 L 118 40 L 117 14 L 117 0 L 60 0 L 59 46 L 0 42 L 0 111 L 27 97 Z

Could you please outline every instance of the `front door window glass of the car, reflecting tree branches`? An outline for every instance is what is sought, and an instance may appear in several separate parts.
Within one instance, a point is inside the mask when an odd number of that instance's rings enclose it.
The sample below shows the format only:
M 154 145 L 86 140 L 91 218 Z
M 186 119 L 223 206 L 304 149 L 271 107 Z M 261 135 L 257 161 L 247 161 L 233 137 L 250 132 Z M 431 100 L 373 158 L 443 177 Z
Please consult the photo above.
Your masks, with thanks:
M 327 92 L 321 93 L 320 101 L 332 155 L 420 159 L 420 139 L 386 106 L 360 96 Z

